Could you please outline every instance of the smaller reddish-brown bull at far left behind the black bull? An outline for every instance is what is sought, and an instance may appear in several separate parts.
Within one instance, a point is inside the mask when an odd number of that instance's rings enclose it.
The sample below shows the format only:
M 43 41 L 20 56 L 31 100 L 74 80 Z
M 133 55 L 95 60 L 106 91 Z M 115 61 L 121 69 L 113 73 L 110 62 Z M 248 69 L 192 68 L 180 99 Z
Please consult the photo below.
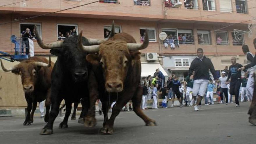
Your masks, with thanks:
M 3 71 L 12 71 L 14 74 L 21 75 L 23 90 L 28 104 L 27 115 L 23 125 L 31 125 L 31 123 L 33 123 L 33 116 L 37 102 L 42 102 L 45 99 L 45 122 L 48 121 L 51 104 L 51 71 L 53 65 L 54 63 L 51 62 L 51 57 L 49 57 L 49 61 L 40 56 L 30 57 L 28 60 L 22 61 L 10 68 L 5 68 L 1 60 Z

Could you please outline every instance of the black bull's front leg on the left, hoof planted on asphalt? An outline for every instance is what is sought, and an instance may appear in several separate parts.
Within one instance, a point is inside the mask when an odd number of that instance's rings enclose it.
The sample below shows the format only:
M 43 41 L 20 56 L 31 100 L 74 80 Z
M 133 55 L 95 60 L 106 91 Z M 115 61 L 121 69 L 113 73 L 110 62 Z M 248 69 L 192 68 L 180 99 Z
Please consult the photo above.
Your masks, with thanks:
M 54 91 L 57 91 L 57 90 L 54 90 Z M 51 112 L 49 115 L 49 120 L 48 120 L 47 124 L 45 125 L 45 127 L 40 132 L 41 135 L 47 135 L 47 134 L 53 133 L 53 130 L 52 130 L 53 122 L 59 113 L 59 107 L 60 107 L 62 98 L 59 95 L 56 95 L 56 97 L 54 97 L 53 96 L 54 94 L 52 94 L 52 93 L 53 93 L 53 90 L 51 92 Z

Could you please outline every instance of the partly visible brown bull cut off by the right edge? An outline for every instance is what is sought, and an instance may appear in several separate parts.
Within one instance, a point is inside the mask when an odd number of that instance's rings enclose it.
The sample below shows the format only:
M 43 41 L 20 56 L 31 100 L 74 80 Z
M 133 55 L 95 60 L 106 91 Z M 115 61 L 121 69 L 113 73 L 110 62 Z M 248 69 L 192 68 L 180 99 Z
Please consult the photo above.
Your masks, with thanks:
M 255 79 L 256 74 L 254 73 L 254 79 Z M 250 105 L 248 114 L 250 115 L 249 117 L 249 122 L 256 126 L 256 83 L 254 82 L 254 90 L 253 90 L 253 100 Z

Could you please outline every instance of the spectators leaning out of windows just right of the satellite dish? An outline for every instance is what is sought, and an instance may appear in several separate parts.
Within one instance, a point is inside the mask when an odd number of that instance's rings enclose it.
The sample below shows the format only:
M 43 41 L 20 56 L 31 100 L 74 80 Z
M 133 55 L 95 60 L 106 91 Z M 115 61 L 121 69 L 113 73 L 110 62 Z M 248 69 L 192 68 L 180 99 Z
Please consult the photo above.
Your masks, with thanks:
M 168 48 L 170 46 L 171 49 L 175 49 L 175 47 L 179 47 L 179 44 L 193 44 L 194 39 L 191 34 L 187 35 L 186 33 L 180 34 L 177 37 L 175 35 L 168 35 L 167 38 L 163 41 L 164 47 Z

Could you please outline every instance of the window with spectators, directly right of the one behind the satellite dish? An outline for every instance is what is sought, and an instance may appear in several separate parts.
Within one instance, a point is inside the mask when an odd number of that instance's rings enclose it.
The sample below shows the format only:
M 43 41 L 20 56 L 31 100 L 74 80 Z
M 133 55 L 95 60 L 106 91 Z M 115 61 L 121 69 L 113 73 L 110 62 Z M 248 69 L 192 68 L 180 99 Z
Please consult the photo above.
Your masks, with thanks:
M 194 37 L 192 30 L 178 29 L 179 44 L 194 44 Z

